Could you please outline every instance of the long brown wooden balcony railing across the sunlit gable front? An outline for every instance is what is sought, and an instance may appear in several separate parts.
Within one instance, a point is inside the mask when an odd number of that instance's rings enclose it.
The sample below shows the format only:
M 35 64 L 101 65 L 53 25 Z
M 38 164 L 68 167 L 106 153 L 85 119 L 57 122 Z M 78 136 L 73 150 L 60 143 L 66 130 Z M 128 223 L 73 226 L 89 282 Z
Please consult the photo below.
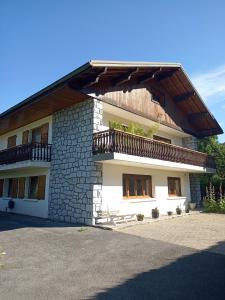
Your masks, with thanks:
M 191 149 L 109 129 L 94 133 L 93 154 L 123 153 L 215 169 L 213 157 Z

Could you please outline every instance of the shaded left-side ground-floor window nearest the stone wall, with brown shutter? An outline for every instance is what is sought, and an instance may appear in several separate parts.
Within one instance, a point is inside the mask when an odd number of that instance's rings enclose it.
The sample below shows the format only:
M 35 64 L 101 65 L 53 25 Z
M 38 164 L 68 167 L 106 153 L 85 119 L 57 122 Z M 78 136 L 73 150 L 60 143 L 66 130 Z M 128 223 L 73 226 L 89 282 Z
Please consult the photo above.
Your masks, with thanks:
M 45 182 L 46 176 L 32 176 L 29 178 L 29 189 L 28 198 L 29 199 L 45 199 Z

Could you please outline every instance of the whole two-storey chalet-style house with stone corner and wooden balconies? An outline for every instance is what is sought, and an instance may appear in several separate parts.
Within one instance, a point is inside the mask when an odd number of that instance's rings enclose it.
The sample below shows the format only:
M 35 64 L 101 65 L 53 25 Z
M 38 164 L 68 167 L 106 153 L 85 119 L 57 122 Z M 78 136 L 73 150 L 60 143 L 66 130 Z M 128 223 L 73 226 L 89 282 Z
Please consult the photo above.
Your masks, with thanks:
M 215 171 L 197 140 L 222 132 L 180 64 L 90 61 L 0 115 L 0 210 L 95 224 L 184 209 Z

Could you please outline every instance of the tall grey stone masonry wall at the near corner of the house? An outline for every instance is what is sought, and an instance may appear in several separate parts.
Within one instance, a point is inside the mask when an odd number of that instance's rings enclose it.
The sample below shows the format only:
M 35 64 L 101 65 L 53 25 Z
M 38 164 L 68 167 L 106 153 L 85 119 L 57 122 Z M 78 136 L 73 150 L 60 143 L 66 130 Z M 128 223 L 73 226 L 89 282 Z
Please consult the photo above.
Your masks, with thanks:
M 94 224 L 101 204 L 102 165 L 92 160 L 102 104 L 86 100 L 53 115 L 49 218 Z

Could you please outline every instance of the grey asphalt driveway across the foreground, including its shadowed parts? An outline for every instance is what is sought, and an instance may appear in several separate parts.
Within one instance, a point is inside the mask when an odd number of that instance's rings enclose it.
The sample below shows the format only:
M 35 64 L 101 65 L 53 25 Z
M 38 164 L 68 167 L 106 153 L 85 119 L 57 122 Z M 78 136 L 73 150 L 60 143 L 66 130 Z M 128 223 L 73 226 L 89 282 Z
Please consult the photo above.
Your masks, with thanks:
M 225 299 L 213 247 L 0 214 L 0 299 Z

